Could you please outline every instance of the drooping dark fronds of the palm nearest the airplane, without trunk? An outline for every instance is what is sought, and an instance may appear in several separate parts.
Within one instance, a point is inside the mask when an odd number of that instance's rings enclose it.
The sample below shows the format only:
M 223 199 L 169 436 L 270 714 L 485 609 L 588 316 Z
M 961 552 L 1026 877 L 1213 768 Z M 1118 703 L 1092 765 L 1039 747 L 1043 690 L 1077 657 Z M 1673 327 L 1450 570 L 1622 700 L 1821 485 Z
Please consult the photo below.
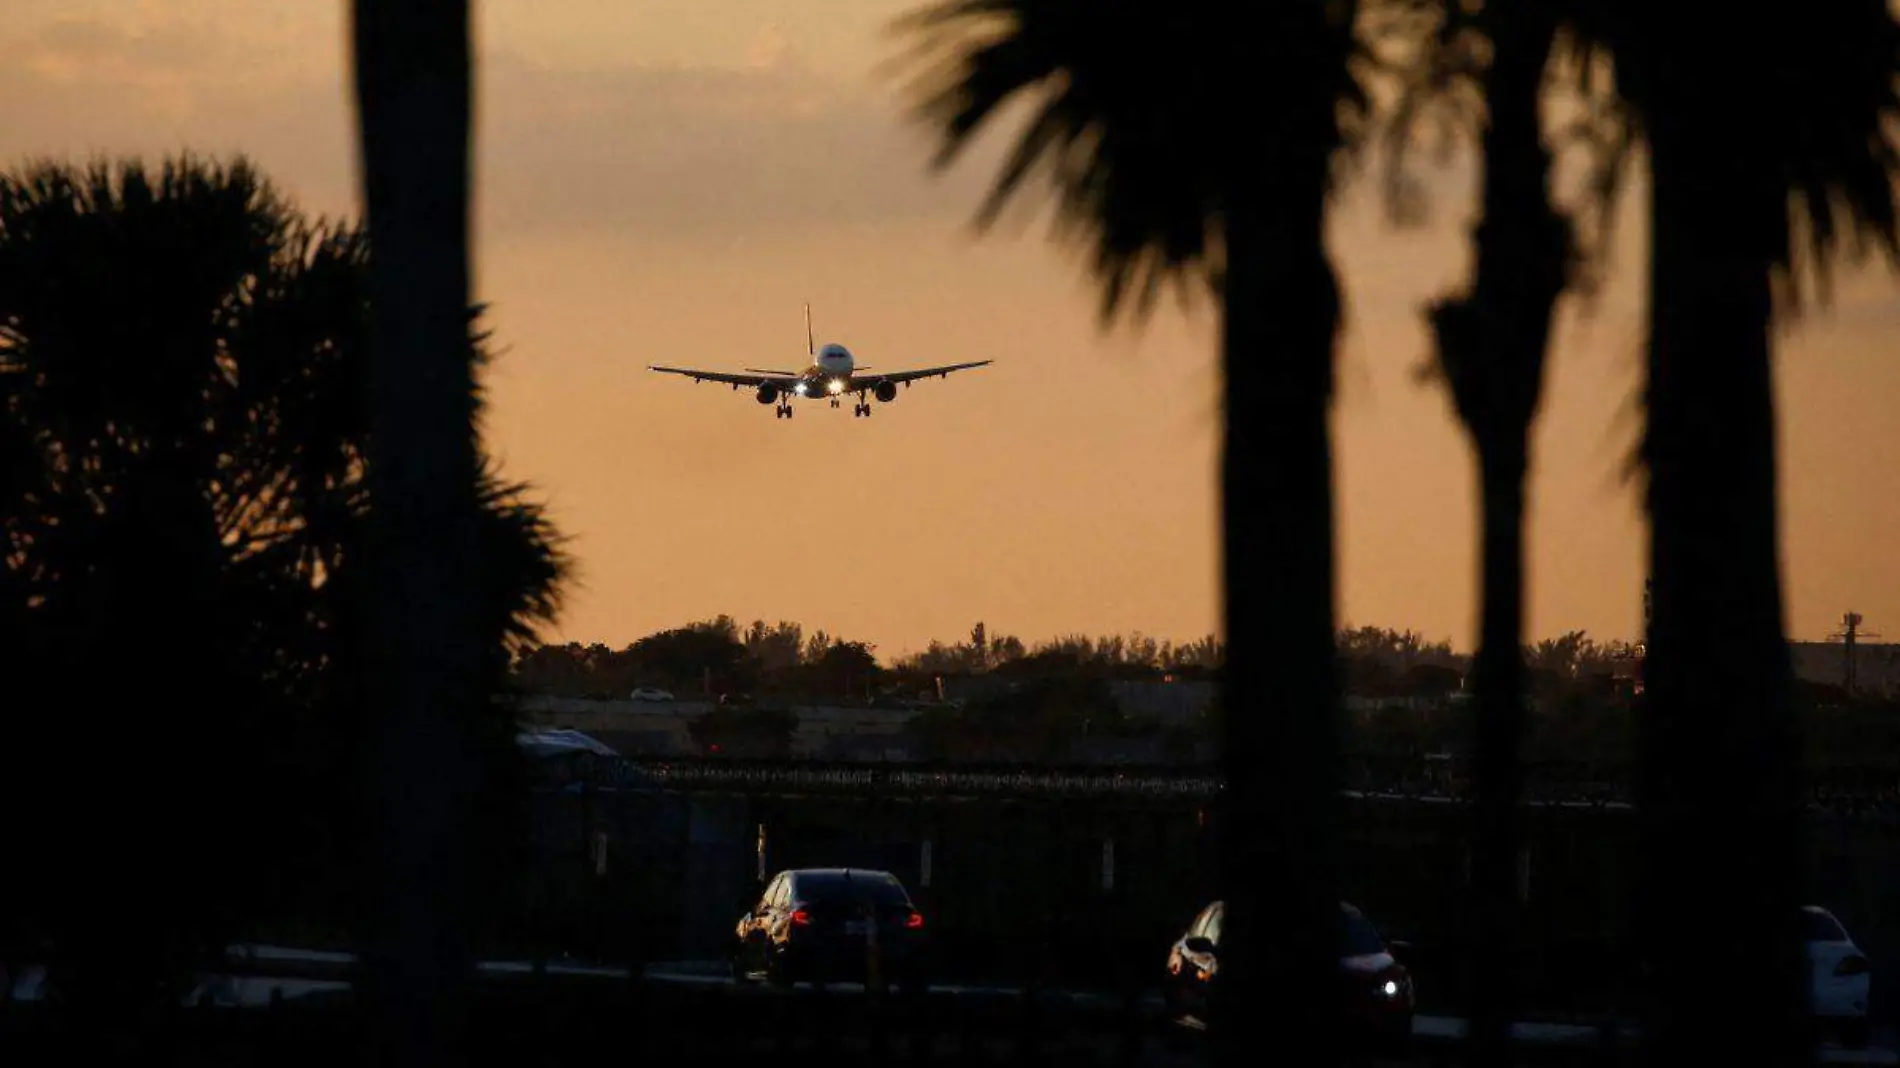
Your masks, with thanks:
M 1218 0 L 946 0 L 893 29 L 910 40 L 899 67 L 914 72 L 912 118 L 937 133 L 935 169 L 1011 105 L 1030 105 L 975 224 L 992 226 L 1047 179 L 1054 236 L 1083 249 L 1108 325 L 1123 310 L 1146 319 L 1170 279 L 1184 295 L 1220 285 L 1243 158 L 1330 165 L 1366 110 L 1353 61 L 1370 53 L 1349 11 L 1319 0 L 1269 17 Z

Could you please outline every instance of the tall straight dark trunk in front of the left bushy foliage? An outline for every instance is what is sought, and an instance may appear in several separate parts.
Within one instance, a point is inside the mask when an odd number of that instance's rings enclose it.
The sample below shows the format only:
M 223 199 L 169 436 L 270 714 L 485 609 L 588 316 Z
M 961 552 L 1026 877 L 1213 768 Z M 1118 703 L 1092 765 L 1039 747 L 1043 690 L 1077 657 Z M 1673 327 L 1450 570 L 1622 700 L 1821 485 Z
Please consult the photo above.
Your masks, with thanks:
M 363 992 L 378 1060 L 439 1064 L 466 1019 L 483 705 L 469 365 L 469 11 L 355 0 L 370 234 L 372 849 Z

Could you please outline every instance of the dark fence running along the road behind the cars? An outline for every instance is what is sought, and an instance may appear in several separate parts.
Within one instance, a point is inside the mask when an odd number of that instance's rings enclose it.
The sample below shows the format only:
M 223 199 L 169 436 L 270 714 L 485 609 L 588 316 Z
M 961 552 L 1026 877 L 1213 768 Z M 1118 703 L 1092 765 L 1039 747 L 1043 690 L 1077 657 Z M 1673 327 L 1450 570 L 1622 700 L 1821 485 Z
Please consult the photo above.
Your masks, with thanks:
M 762 874 L 838 865 L 904 880 L 948 977 L 1113 986 L 1157 969 L 1216 893 L 1218 806 L 1180 783 L 1077 773 L 1020 796 L 1020 773 L 817 768 L 788 787 L 783 770 L 743 766 L 659 781 L 667 789 L 543 798 L 566 857 L 549 868 L 576 872 L 560 901 L 589 924 L 553 929 L 585 956 L 718 960 Z M 977 789 L 963 789 L 971 781 Z M 1811 823 L 1811 899 L 1841 916 L 1883 971 L 1875 988 L 1887 986 L 1900 916 L 1881 887 L 1900 880 L 1900 821 L 1816 813 Z M 583 829 L 608 829 L 610 876 L 585 874 Z M 1351 794 L 1341 827 L 1347 897 L 1414 943 L 1419 996 L 1434 1011 L 1465 1003 L 1467 830 L 1465 806 L 1366 792 Z M 1531 806 L 1522 963 L 1533 1005 L 1624 1007 L 1634 830 L 1623 804 Z

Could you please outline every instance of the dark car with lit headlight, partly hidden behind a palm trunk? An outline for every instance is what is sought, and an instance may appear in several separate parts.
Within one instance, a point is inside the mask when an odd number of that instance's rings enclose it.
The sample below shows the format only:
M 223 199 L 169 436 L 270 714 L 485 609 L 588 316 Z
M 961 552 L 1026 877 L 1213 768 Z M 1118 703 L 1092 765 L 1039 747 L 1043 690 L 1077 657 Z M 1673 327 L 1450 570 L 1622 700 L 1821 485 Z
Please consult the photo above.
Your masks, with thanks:
M 1208 990 L 1220 973 L 1222 912 L 1222 903 L 1216 901 L 1193 918 L 1188 931 L 1168 946 L 1168 971 L 1163 979 L 1168 1017 L 1203 1030 L 1210 1024 Z M 1347 1038 L 1402 1051 L 1412 1038 L 1412 975 L 1358 908 L 1341 901 L 1340 912 L 1340 996 L 1345 1001 Z

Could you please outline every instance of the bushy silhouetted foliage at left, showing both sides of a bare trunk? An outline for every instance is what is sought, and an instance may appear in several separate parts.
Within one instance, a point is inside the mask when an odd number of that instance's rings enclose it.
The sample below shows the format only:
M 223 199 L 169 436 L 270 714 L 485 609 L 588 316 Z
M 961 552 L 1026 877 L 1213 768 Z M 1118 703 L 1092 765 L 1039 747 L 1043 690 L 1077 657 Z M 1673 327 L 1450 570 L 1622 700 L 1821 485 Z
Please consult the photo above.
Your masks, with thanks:
M 369 726 L 367 253 L 243 160 L 0 177 L 0 604 L 10 686 L 55 701 L 10 724 L 0 777 L 44 813 L 21 916 L 76 996 L 110 975 L 146 998 L 245 924 L 336 912 Z M 484 334 L 467 346 L 484 357 Z M 475 486 L 496 684 L 566 572 L 522 494 L 492 469 Z M 70 781 L 46 754 L 74 730 L 97 732 L 87 800 L 48 808 Z M 82 817 L 101 811 L 110 844 Z

